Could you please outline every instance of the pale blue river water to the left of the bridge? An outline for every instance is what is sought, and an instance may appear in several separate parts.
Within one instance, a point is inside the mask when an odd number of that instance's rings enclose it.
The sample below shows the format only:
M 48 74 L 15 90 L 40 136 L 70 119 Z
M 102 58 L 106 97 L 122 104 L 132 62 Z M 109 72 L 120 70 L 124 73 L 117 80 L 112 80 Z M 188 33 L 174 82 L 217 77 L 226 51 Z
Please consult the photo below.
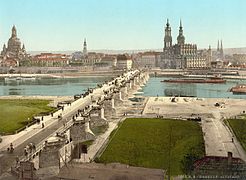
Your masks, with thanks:
M 112 77 L 81 78 L 37 78 L 35 80 L 0 80 L 0 96 L 9 95 L 43 95 L 73 96 L 81 94 L 88 88 L 96 87 Z

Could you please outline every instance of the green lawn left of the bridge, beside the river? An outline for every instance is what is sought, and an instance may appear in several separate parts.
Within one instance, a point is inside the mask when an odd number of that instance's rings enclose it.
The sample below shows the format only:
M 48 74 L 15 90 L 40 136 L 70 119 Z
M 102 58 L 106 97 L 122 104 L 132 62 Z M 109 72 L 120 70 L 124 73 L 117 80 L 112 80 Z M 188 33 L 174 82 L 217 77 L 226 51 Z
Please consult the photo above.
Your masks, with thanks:
M 14 133 L 28 123 L 28 118 L 31 121 L 34 115 L 53 111 L 48 104 L 48 100 L 0 99 L 0 133 Z

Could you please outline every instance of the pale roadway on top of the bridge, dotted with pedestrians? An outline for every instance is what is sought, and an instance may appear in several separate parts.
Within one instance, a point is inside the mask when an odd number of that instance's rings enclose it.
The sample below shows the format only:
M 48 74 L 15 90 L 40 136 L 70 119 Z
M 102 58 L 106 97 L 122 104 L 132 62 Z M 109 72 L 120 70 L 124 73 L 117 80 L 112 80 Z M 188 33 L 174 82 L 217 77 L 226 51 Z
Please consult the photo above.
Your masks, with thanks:
M 41 124 L 35 124 L 27 127 L 25 130 L 18 134 L 3 137 L 3 142 L 0 143 L 0 174 L 6 172 L 11 165 L 15 162 L 17 156 L 22 156 L 24 153 L 24 147 L 29 143 L 40 144 L 44 142 L 48 137 L 55 135 L 55 132 L 64 126 L 64 123 L 68 122 L 79 109 L 83 109 L 92 103 L 92 97 L 100 98 L 104 95 L 104 92 L 113 88 L 115 85 L 113 81 L 117 80 L 119 83 L 130 80 L 138 74 L 139 71 L 130 71 L 124 73 L 122 76 L 115 78 L 114 80 L 103 84 L 101 88 L 95 88 L 92 93 L 86 97 L 81 97 L 72 102 L 71 105 L 65 105 L 64 109 L 59 110 L 51 115 L 43 117 L 44 128 Z M 58 116 L 62 116 L 59 119 Z M 15 150 L 13 153 L 7 152 L 7 147 L 10 143 L 13 144 Z

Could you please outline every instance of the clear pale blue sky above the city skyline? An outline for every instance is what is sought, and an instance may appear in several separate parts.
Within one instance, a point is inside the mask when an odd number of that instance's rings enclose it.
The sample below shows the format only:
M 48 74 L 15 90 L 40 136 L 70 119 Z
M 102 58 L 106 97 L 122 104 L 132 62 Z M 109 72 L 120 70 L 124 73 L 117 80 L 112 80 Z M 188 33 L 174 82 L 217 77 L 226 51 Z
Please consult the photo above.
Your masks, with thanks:
M 27 51 L 162 49 L 166 19 L 198 48 L 246 47 L 245 0 L 0 0 L 0 48 L 13 25 Z

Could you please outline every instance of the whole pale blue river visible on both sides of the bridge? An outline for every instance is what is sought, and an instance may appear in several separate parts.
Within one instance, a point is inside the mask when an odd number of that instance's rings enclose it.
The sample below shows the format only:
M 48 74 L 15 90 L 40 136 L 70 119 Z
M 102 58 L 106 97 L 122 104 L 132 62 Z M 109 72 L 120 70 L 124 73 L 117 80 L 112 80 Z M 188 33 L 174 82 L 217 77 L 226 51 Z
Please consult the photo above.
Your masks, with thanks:
M 38 78 L 36 80 L 4 81 L 0 79 L 0 96 L 9 95 L 44 95 L 44 96 L 73 96 L 81 94 L 87 88 L 96 87 L 99 83 L 112 77 L 80 77 L 80 78 Z M 233 95 L 228 91 L 237 84 L 246 84 L 246 80 L 227 80 L 225 84 L 185 84 L 167 83 L 161 80 L 166 77 L 151 77 L 146 86 L 139 92 L 144 96 L 166 96 L 172 92 L 181 92 L 183 96 L 204 98 L 241 98 L 246 95 Z

